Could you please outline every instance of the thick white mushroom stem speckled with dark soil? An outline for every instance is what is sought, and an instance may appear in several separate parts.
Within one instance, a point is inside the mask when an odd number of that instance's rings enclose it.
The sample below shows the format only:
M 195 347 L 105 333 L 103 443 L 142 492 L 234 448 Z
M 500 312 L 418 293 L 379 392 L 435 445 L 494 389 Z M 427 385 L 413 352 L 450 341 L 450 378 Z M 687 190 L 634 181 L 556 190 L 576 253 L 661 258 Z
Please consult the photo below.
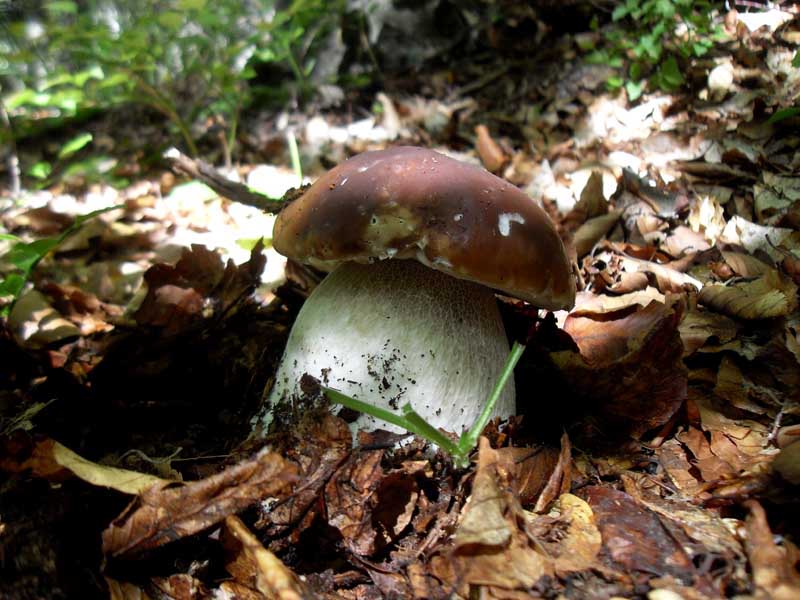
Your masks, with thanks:
M 297 315 L 268 407 L 301 397 L 298 382 L 308 373 L 382 408 L 410 402 L 434 427 L 461 433 L 480 414 L 508 351 L 490 289 L 414 260 L 345 263 Z M 514 409 L 510 381 L 494 414 Z M 271 415 L 260 420 L 267 425 Z M 352 427 L 398 431 L 368 415 Z

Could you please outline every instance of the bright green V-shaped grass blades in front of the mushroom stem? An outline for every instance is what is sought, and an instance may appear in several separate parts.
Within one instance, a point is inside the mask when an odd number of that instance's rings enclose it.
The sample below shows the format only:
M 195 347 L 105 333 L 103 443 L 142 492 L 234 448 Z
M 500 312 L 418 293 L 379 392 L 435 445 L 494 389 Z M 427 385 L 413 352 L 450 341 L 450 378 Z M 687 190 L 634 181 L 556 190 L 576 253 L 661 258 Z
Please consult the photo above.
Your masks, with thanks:
M 470 452 L 472 452 L 473 448 L 477 445 L 478 438 L 491 418 L 492 410 L 494 410 L 497 399 L 500 397 L 509 378 L 513 375 L 514 367 L 517 366 L 523 352 L 525 352 L 525 346 L 519 342 L 514 342 L 511 352 L 509 352 L 508 358 L 503 366 L 503 371 L 500 377 L 498 377 L 489 398 L 486 399 L 481 414 L 475 420 L 472 427 L 461 434 L 458 442 L 453 442 L 449 437 L 425 421 L 414 411 L 414 408 L 410 404 L 403 406 L 402 414 L 397 414 L 372 404 L 361 402 L 332 388 L 323 387 L 322 389 L 325 391 L 330 401 L 335 404 L 341 404 L 352 410 L 357 410 L 382 419 L 436 444 L 453 457 L 453 462 L 457 467 L 463 468 L 469 464 Z

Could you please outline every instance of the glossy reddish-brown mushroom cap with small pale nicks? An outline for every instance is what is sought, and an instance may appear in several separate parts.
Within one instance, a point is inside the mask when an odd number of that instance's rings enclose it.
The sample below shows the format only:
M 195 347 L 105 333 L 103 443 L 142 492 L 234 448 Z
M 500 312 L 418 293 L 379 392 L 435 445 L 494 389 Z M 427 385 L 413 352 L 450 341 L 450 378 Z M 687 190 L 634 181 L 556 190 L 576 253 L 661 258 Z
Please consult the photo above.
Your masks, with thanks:
M 564 245 L 536 202 L 483 168 L 399 146 L 328 171 L 275 221 L 273 246 L 323 270 L 414 258 L 551 310 L 575 302 Z

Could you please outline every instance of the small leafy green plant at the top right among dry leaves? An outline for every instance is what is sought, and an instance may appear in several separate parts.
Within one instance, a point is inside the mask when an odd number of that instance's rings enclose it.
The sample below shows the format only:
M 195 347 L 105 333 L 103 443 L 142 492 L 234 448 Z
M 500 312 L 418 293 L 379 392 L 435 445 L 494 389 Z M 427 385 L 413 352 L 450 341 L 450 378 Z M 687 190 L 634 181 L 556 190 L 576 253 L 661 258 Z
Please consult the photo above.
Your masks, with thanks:
M 627 65 L 625 76 L 612 76 L 607 83 L 611 89 L 624 87 L 632 101 L 647 84 L 676 90 L 685 82 L 680 61 L 703 56 L 724 39 L 713 23 L 714 5 L 709 0 L 625 0 L 612 13 L 605 46 L 592 48 L 588 60 L 615 68 Z M 593 28 L 599 27 L 595 18 Z

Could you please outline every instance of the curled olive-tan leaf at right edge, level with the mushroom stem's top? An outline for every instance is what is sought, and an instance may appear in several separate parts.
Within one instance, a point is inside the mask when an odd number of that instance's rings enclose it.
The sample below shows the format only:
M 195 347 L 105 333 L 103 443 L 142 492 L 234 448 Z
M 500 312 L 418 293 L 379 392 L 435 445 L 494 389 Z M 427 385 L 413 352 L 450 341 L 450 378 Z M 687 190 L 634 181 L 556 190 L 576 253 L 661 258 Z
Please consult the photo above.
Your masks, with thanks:
M 769 319 L 786 316 L 797 309 L 797 286 L 770 269 L 753 281 L 706 285 L 698 300 L 732 317 Z

